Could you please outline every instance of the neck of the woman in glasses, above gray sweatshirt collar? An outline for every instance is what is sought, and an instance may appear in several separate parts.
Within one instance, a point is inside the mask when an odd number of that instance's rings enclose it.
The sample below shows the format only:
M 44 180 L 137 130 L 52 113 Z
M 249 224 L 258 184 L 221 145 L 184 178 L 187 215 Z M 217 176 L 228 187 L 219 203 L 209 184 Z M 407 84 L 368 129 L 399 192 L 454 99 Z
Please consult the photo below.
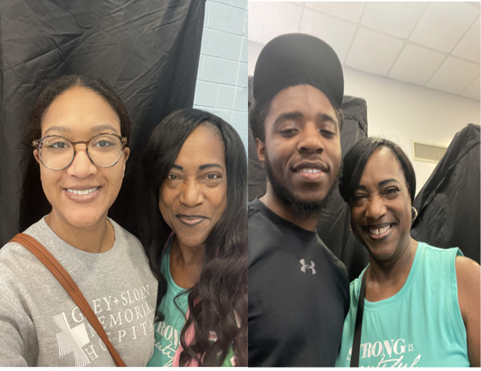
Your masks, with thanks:
M 98 224 L 89 228 L 77 228 L 50 212 L 45 221 L 53 233 L 67 244 L 87 253 L 105 253 L 113 247 L 115 232 L 109 219 L 102 218 Z

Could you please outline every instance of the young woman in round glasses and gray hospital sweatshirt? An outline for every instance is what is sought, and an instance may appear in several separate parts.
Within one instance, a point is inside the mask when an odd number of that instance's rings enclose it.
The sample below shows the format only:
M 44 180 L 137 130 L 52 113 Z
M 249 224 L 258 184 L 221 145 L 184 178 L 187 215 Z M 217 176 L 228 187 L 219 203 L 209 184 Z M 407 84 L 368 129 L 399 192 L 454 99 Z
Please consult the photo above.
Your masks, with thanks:
M 24 233 L 68 272 L 128 366 L 153 353 L 157 281 L 142 245 L 107 217 L 129 158 L 130 120 L 94 76 L 66 76 L 32 112 L 33 155 L 52 206 Z M 0 366 L 113 366 L 66 290 L 16 242 L 0 249 Z

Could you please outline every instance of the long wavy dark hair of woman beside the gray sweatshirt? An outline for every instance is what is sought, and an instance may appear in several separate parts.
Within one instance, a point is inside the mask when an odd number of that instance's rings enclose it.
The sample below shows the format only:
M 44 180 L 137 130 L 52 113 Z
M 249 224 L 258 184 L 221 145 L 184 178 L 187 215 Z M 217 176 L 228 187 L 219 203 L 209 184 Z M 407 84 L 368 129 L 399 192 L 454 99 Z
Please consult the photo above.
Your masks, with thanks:
M 202 273 L 189 290 L 189 318 L 180 334 L 184 348 L 180 365 L 187 365 L 192 359 L 202 366 L 220 365 L 233 345 L 236 365 L 247 367 L 247 155 L 231 125 L 209 112 L 181 109 L 153 130 L 142 159 L 145 189 L 140 239 L 159 281 L 158 307 L 167 292 L 160 266 L 162 250 L 171 233 L 158 207 L 159 190 L 185 140 L 199 125 L 214 125 L 224 143 L 227 207 L 205 240 Z M 155 321 L 163 318 L 158 312 Z M 191 325 L 195 339 L 187 344 L 185 334 Z M 214 343 L 209 341 L 211 331 L 218 338 Z

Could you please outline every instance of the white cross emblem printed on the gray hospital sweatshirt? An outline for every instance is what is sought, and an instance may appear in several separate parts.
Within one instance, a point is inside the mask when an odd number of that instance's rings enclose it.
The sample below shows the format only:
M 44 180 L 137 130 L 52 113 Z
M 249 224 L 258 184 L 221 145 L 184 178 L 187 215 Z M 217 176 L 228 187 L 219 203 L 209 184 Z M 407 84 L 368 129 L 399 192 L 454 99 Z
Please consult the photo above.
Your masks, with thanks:
M 75 367 L 88 365 L 90 361 L 88 361 L 86 354 L 82 350 L 84 345 L 90 343 L 85 324 L 81 323 L 71 329 L 65 313 L 53 316 L 53 320 L 62 331 L 56 334 L 59 345 L 59 356 L 73 353 Z

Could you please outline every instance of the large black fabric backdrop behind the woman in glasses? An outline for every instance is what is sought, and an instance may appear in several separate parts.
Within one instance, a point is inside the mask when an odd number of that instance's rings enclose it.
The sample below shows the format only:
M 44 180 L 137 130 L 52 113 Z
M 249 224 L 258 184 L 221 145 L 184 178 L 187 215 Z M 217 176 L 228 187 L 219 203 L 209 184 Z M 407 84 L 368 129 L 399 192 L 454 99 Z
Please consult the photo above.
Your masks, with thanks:
M 26 127 L 46 84 L 93 73 L 132 120 L 131 158 L 109 212 L 135 233 L 138 159 L 160 120 L 192 107 L 205 0 L 1 0 L 0 246 L 50 210 Z

